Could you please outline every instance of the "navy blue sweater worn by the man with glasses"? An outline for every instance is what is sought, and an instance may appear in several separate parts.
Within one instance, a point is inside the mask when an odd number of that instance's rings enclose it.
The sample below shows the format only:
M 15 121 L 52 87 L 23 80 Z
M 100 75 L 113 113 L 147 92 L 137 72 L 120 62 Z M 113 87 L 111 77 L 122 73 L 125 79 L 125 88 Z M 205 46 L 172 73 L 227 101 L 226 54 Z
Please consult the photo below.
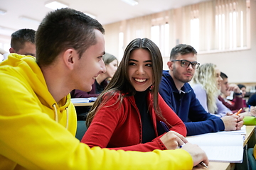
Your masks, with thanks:
M 223 120 L 204 110 L 188 83 L 182 86 L 181 93 L 179 93 L 167 70 L 163 72 L 159 93 L 185 123 L 188 136 L 218 132 L 225 129 Z

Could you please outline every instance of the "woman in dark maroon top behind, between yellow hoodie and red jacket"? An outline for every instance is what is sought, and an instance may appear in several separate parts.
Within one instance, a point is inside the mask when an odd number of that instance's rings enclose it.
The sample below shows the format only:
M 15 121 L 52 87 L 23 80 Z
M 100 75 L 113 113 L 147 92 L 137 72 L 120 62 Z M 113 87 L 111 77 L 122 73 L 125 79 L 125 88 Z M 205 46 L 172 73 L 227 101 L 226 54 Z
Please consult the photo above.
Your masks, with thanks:
M 95 83 L 92 84 L 92 90 L 89 92 L 73 90 L 70 92 L 71 98 L 89 98 L 99 96 L 109 83 L 109 79 L 112 79 L 114 76 L 118 65 L 117 57 L 114 57 L 114 55 L 110 55 L 109 53 L 105 53 L 103 61 L 106 66 L 106 72 L 102 72 L 95 78 Z

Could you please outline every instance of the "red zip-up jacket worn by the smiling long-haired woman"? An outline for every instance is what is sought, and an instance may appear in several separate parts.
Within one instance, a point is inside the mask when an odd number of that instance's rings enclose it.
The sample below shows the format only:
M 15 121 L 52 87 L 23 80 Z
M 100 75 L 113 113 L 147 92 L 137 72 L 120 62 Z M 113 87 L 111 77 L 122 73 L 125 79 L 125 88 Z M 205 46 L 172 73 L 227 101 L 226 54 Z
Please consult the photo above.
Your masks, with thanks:
M 119 94 L 114 95 L 100 111 L 97 111 L 81 142 L 86 143 L 90 147 L 100 146 L 102 148 L 107 147 L 141 152 L 166 149 L 159 139 L 161 136 L 157 134 L 156 121 L 160 119 L 154 112 L 151 94 L 149 93 L 147 96 L 147 103 L 157 137 L 145 144 L 142 144 L 142 121 L 134 97 L 125 97 L 120 105 L 119 102 L 116 103 L 118 96 Z M 166 121 L 172 125 L 170 130 L 186 136 L 186 127 L 182 120 L 178 118 L 178 115 L 171 110 L 160 95 L 159 107 Z

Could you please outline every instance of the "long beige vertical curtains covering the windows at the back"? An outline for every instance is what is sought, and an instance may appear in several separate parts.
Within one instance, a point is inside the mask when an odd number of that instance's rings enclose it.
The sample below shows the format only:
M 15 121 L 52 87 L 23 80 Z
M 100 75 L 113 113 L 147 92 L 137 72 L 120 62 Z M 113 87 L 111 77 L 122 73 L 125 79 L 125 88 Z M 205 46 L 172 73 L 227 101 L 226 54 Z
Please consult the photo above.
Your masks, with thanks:
M 166 24 L 169 27 L 164 27 Z M 154 26 L 159 26 L 157 35 L 151 33 Z M 179 43 L 192 45 L 198 52 L 239 50 L 250 47 L 250 0 L 205 1 L 104 27 L 106 49 L 113 55 L 122 54 L 134 38 L 152 35 L 154 40 L 159 39 L 157 45 L 163 57 L 168 57 L 167 52 Z M 119 33 L 123 33 L 123 42 L 119 42 Z

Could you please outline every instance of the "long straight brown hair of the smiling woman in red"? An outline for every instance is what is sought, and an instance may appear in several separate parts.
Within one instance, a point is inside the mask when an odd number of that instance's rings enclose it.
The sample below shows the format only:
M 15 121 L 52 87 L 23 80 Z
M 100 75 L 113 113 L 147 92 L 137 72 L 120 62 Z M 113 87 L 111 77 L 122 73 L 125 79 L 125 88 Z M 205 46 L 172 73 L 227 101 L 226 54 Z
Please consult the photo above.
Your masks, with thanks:
M 156 112 L 156 115 L 164 119 L 158 104 L 159 84 L 161 81 L 161 74 L 163 70 L 163 60 L 161 57 L 161 52 L 159 50 L 159 47 L 157 47 L 157 45 L 148 38 L 136 38 L 132 40 L 132 42 L 130 42 L 129 45 L 127 45 L 127 48 L 124 50 L 124 57 L 122 58 L 122 61 L 120 62 L 119 67 L 117 68 L 117 71 L 114 74 L 114 77 L 112 77 L 110 84 L 108 84 L 105 90 L 102 91 L 100 96 L 98 96 L 90 112 L 88 113 L 86 120 L 87 127 L 89 127 L 90 123 L 92 122 L 92 119 L 94 118 L 97 110 L 103 107 L 105 103 L 109 101 L 114 94 L 120 94 L 119 98 L 117 99 L 117 102 L 120 101 L 121 105 L 123 98 L 127 96 L 134 96 L 134 94 L 136 93 L 134 86 L 132 86 L 132 83 L 129 80 L 129 75 L 127 71 L 131 52 L 139 48 L 148 50 L 151 55 L 152 72 L 154 79 L 151 88 L 153 107 L 154 111 Z

